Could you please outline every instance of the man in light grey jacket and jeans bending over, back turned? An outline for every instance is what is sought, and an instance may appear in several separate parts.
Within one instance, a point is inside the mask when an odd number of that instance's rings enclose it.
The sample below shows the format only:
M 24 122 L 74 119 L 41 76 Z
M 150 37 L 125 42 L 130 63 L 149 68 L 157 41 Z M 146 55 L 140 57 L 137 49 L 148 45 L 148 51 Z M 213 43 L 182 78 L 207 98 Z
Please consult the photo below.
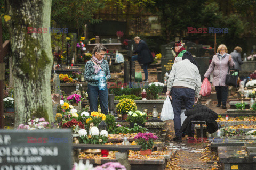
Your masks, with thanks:
M 181 57 L 176 57 L 175 61 L 180 60 Z M 183 56 L 182 61 L 175 62 L 172 66 L 172 70 L 169 74 L 167 81 L 166 95 L 170 96 L 172 100 L 172 107 L 174 113 L 174 129 L 175 138 L 173 141 L 182 142 L 181 128 L 181 104 L 185 105 L 186 109 L 191 109 L 198 101 L 199 92 L 201 89 L 201 77 L 199 70 L 194 62 L 194 58 L 191 56 Z M 194 133 L 194 125 L 193 127 Z

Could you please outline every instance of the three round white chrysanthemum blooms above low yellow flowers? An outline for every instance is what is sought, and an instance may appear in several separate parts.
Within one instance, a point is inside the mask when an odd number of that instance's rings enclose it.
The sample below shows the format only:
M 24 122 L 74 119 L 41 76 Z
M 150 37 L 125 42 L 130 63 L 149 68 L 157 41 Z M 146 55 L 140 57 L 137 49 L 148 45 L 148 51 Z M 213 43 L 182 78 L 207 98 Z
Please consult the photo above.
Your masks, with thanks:
M 108 131 L 102 130 L 99 132 L 99 129 L 95 126 L 91 128 L 89 134 L 85 129 L 79 130 L 78 134 L 79 143 L 105 144 L 108 141 Z

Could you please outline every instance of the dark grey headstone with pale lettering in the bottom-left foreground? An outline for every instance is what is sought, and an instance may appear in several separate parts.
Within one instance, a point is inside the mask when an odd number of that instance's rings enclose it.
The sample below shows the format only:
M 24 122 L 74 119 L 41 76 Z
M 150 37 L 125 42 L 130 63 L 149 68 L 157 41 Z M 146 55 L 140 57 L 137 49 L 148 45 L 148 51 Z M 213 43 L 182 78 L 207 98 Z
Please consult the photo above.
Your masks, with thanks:
M 0 130 L 0 169 L 72 169 L 71 130 Z

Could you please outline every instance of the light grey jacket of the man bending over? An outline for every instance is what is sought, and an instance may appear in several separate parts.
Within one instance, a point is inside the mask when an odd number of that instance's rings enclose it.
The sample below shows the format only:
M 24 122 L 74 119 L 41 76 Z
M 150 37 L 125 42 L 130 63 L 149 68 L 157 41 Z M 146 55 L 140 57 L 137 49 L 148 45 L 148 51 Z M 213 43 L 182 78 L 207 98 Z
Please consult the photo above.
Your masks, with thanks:
M 197 66 L 188 59 L 174 63 L 167 81 L 167 91 L 172 86 L 183 86 L 195 90 L 195 97 L 199 97 L 201 77 Z

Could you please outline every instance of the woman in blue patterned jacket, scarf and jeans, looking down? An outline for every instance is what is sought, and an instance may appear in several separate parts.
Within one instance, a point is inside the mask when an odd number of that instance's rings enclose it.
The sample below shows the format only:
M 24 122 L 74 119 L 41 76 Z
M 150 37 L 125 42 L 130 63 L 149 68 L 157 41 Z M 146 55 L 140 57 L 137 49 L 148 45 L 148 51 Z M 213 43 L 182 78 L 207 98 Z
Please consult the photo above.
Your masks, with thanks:
M 101 113 L 108 114 L 108 88 L 99 90 L 97 74 L 100 71 L 105 72 L 106 81 L 110 79 L 110 70 L 107 60 L 104 60 L 106 47 L 97 44 L 93 48 L 92 59 L 85 64 L 84 78 L 88 81 L 88 97 L 91 112 L 98 111 L 98 96 L 100 100 Z

